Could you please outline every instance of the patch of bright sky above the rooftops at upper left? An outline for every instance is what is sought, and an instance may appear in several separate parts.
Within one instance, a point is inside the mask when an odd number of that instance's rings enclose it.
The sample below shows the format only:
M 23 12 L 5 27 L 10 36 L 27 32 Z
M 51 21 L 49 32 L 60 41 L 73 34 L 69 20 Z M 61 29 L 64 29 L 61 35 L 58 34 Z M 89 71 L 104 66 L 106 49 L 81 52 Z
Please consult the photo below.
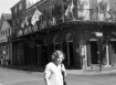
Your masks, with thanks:
M 20 0 L 0 0 L 0 15 L 1 13 L 11 13 L 11 8 Z

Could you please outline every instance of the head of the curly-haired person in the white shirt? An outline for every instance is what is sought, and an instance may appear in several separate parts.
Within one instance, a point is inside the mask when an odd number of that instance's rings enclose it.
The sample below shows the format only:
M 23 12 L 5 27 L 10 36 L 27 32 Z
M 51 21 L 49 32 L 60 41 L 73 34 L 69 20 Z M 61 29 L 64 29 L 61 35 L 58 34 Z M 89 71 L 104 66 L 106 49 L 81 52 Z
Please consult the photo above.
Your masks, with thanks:
M 64 60 L 64 53 L 60 50 L 56 50 L 53 54 L 52 54 L 52 61 L 56 62 L 56 63 L 62 63 L 62 61 Z

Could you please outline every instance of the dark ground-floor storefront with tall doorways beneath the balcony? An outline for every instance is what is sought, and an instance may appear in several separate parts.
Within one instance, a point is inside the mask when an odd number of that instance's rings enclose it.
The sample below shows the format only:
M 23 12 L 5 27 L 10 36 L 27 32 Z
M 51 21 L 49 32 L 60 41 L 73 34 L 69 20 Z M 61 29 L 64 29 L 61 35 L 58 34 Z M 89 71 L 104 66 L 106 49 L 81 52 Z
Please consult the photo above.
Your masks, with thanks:
M 113 22 L 73 21 L 22 35 L 13 44 L 13 62 L 44 66 L 55 50 L 65 53 L 67 68 L 116 64 L 116 25 Z M 102 33 L 98 38 L 96 33 Z

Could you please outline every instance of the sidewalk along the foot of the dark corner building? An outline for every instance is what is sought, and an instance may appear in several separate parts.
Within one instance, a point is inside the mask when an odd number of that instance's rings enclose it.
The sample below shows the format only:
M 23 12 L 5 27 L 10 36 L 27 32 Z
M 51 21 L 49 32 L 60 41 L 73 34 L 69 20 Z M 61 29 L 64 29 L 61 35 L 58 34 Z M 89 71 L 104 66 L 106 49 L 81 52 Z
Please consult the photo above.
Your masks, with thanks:
M 40 66 L 1 66 L 0 67 L 7 67 L 12 70 L 22 70 L 22 71 L 32 71 L 32 72 L 44 72 L 44 67 Z M 94 67 L 89 70 L 66 70 L 67 75 L 101 75 L 101 74 L 110 74 L 116 73 L 116 66 L 112 67 L 102 67 L 102 71 L 99 71 L 99 67 Z

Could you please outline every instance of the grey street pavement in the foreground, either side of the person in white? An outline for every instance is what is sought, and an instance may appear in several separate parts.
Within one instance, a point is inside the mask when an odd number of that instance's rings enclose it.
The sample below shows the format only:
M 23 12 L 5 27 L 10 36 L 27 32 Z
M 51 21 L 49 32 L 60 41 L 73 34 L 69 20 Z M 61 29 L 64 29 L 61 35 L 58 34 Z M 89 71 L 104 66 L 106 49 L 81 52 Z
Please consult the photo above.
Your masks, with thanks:
M 67 75 L 67 85 L 116 85 L 116 74 Z M 0 85 L 45 85 L 42 72 L 0 67 Z

